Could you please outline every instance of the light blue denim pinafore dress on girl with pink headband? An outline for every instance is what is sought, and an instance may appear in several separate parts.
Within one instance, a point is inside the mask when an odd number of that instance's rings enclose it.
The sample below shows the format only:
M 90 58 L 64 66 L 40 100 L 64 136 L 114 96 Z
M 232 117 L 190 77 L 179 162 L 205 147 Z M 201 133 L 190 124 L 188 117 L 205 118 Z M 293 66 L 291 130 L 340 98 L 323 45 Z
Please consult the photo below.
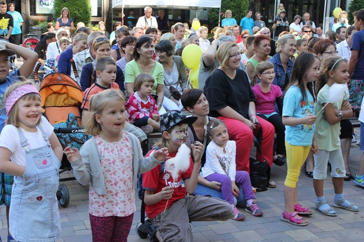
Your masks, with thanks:
M 60 162 L 50 147 L 47 134 L 40 130 L 47 145 L 30 149 L 28 139 L 17 129 L 26 157 L 23 177 L 15 177 L 10 206 L 9 229 L 16 241 L 54 242 L 61 234 L 56 193 Z

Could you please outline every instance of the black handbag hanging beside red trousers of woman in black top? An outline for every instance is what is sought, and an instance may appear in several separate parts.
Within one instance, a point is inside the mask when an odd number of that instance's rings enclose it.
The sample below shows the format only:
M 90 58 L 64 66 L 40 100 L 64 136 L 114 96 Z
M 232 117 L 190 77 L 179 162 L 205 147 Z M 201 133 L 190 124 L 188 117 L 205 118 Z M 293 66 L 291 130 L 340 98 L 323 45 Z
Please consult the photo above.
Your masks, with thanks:
M 260 144 L 262 142 L 263 130 L 262 125 L 260 125 L 260 129 L 257 135 L 254 135 L 254 146 L 257 148 L 257 151 L 262 155 L 262 149 L 260 148 Z M 263 161 L 257 161 L 250 157 L 250 182 L 253 187 L 256 188 L 257 192 L 263 192 L 267 190 L 267 184 L 270 179 L 270 166 L 268 161 L 266 161 L 263 157 Z

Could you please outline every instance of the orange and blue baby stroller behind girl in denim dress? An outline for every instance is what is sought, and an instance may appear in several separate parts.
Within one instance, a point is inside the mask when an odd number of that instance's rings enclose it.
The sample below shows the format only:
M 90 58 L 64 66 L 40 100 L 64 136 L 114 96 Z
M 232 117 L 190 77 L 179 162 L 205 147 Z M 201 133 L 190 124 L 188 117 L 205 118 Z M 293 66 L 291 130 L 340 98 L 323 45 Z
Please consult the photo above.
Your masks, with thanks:
M 34 73 L 34 80 L 37 82 L 37 68 Z M 82 103 L 83 90 L 66 74 L 52 73 L 44 77 L 40 83 L 39 93 L 42 97 L 41 106 L 43 115 L 53 125 L 61 145 L 65 148 L 71 145 L 79 149 L 89 138 L 84 129 L 80 128 L 81 117 L 80 107 Z M 63 155 L 59 174 L 72 170 L 71 164 Z M 62 181 L 75 180 L 75 177 L 60 178 Z M 57 199 L 62 207 L 69 203 L 69 192 L 65 184 L 60 184 L 57 191 Z

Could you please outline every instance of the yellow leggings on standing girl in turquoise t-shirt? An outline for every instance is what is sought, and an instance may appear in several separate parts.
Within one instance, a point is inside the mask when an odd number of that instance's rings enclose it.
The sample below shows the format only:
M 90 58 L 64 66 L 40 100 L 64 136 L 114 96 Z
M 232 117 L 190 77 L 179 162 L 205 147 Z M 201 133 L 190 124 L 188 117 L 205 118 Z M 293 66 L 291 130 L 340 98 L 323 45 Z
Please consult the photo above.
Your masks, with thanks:
M 306 161 L 308 153 L 310 152 L 311 145 L 290 145 L 287 141 L 285 141 L 285 144 L 287 152 L 287 177 L 284 181 L 284 185 L 295 188 L 302 165 Z

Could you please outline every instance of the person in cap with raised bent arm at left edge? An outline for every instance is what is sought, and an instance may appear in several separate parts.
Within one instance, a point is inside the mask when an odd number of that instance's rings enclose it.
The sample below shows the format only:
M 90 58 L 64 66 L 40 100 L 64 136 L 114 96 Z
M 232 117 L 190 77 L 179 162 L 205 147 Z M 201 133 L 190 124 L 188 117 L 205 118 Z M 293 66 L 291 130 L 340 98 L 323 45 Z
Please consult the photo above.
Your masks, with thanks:
M 24 63 L 18 69 L 9 73 L 10 63 L 8 58 L 15 54 L 22 57 Z M 37 59 L 38 55 L 34 51 L 11 44 L 6 40 L 0 40 L 0 132 L 4 128 L 5 120 L 7 119 L 4 102 L 5 90 L 14 82 L 21 81 L 19 79 L 20 76 L 28 78 L 33 72 Z M 13 180 L 13 176 L 0 172 L 0 186 L 4 188 L 0 189 L 0 205 L 5 204 L 6 206 L 6 219 L 8 223 Z M 8 241 L 12 239 L 8 230 Z

